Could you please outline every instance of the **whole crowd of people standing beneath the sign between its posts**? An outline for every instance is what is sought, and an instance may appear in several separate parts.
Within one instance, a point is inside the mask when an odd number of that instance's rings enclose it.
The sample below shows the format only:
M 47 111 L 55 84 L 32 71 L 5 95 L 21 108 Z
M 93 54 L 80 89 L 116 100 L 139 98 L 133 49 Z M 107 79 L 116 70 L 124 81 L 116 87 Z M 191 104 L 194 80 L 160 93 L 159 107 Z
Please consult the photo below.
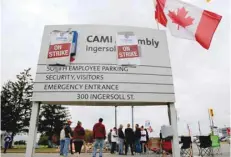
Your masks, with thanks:
M 74 143 L 75 156 L 79 157 L 84 143 L 85 130 L 80 121 L 78 121 L 73 131 L 70 127 L 71 124 L 72 122 L 70 120 L 67 121 L 67 124 L 63 126 L 63 129 L 60 132 L 60 155 L 67 157 L 69 146 L 72 146 L 72 143 Z M 93 138 L 95 141 L 93 144 L 92 157 L 96 157 L 97 149 L 99 149 L 99 157 L 102 157 L 104 141 L 106 139 L 106 129 L 102 118 L 100 118 L 93 127 Z M 128 147 L 130 147 L 132 155 L 134 155 L 134 151 L 136 153 L 145 153 L 148 139 L 149 136 L 147 130 L 144 129 L 143 126 L 139 127 L 138 124 L 136 124 L 135 131 L 133 131 L 133 129 L 130 128 L 130 124 L 128 124 L 125 131 L 123 131 L 123 125 L 120 125 L 118 130 L 114 127 L 108 134 L 108 141 L 111 145 L 112 154 L 115 153 L 117 146 L 120 155 L 127 154 Z M 74 154 L 72 150 L 71 153 Z

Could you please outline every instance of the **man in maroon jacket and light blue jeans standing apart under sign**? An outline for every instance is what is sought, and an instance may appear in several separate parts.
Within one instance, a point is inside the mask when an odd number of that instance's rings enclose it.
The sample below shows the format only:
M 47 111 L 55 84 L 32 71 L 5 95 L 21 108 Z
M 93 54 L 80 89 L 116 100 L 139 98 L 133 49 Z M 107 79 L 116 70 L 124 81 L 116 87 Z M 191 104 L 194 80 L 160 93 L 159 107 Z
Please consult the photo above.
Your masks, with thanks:
M 104 140 L 106 139 L 106 130 L 105 130 L 105 126 L 103 125 L 102 118 L 100 118 L 99 122 L 96 123 L 93 127 L 93 138 L 95 139 L 95 142 L 94 142 L 92 156 L 96 157 L 96 151 L 97 151 L 97 148 L 99 147 L 100 149 L 99 156 L 102 157 L 103 156 L 103 144 L 104 144 Z

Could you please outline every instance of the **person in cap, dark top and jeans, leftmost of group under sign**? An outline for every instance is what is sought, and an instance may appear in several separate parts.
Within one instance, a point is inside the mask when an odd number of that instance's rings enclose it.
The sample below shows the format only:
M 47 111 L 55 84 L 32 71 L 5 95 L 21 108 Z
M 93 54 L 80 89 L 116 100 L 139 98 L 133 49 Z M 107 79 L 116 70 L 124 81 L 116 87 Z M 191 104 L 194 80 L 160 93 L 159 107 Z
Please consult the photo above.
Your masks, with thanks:
M 66 127 L 64 129 L 64 131 L 65 131 L 65 138 L 64 138 L 65 143 L 64 143 L 64 148 L 63 148 L 63 155 L 65 157 L 68 156 L 69 145 L 70 145 L 70 141 L 72 139 L 72 130 L 71 130 L 71 127 L 70 127 L 71 123 L 72 122 L 70 120 L 68 120 L 67 125 L 66 125 Z

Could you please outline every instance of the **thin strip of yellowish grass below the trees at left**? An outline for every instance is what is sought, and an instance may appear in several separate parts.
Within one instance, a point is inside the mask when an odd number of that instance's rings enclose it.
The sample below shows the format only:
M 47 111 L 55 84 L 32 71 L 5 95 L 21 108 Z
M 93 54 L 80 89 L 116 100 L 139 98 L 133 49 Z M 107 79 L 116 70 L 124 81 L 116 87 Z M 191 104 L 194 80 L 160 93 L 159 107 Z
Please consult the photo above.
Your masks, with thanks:
M 4 149 L 1 149 L 1 152 L 3 152 Z M 7 149 L 7 153 L 25 153 L 26 148 L 12 148 Z M 59 150 L 57 148 L 38 148 L 35 149 L 36 153 L 58 153 Z

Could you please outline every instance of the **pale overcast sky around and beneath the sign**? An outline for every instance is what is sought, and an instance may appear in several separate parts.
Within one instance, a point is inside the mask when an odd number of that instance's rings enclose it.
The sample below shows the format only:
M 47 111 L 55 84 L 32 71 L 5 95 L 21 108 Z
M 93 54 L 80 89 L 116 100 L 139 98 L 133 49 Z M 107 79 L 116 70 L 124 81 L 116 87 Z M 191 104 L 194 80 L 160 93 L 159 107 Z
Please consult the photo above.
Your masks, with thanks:
M 229 0 L 187 0 L 223 16 L 210 50 L 198 43 L 172 37 L 167 31 L 178 112 L 179 134 L 209 132 L 208 108 L 215 112 L 214 123 L 229 126 L 230 117 L 230 12 Z M 152 0 L 2 0 L 1 83 L 15 79 L 25 68 L 35 77 L 44 25 L 110 24 L 157 28 Z M 209 26 L 208 26 L 209 27 Z M 160 27 L 160 29 L 164 29 Z M 74 122 L 92 128 L 99 117 L 107 129 L 114 125 L 113 107 L 70 107 Z M 135 123 L 150 120 L 157 135 L 168 124 L 166 107 L 135 107 Z M 131 108 L 118 108 L 118 123 L 131 123 Z

